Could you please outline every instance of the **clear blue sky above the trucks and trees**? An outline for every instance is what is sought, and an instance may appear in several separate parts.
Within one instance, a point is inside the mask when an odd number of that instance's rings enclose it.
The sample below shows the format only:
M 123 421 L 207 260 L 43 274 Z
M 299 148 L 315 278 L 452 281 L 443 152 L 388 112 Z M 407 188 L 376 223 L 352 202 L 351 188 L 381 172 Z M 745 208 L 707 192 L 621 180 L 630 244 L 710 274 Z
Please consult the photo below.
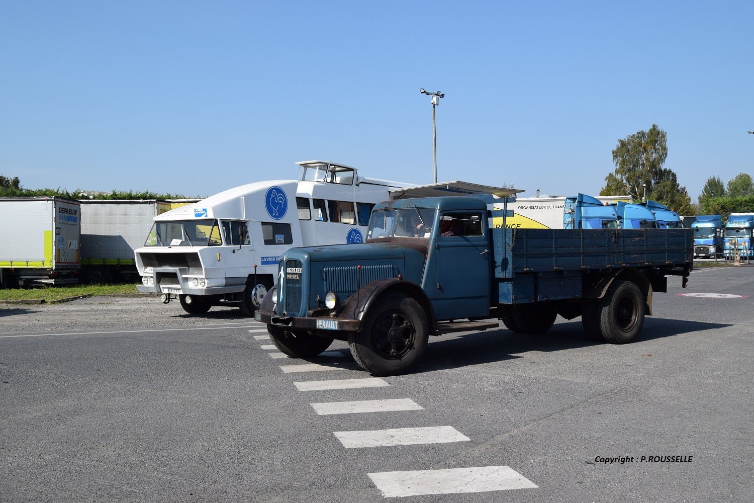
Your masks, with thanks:
M 0 2 L 0 174 L 211 195 L 324 159 L 597 195 L 657 124 L 692 201 L 754 174 L 754 2 Z

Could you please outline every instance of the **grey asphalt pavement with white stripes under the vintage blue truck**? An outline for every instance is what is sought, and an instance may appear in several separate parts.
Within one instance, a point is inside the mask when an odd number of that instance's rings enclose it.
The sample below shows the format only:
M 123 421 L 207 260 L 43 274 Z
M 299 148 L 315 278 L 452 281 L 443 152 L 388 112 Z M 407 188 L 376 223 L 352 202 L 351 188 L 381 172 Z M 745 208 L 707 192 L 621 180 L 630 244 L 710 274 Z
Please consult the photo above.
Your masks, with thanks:
M 238 309 L 0 305 L 0 501 L 751 501 L 752 280 L 669 278 L 629 345 L 559 318 L 382 379 Z

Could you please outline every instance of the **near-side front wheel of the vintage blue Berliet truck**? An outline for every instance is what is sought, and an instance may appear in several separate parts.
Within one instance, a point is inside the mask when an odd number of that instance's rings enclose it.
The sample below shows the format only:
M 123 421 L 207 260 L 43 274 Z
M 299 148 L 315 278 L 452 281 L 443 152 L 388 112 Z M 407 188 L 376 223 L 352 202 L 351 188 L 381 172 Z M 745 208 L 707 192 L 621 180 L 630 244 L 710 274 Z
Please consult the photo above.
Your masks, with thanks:
M 429 323 L 421 305 L 405 293 L 388 292 L 369 309 L 362 330 L 348 334 L 348 346 L 354 360 L 372 376 L 396 376 L 421 359 L 428 339 Z

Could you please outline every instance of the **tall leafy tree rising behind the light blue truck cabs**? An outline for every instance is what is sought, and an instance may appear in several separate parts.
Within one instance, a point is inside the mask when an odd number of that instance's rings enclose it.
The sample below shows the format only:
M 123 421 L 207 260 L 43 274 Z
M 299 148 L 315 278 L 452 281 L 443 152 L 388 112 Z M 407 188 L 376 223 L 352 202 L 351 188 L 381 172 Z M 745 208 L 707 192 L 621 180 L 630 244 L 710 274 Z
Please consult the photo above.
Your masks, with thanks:
M 652 124 L 618 140 L 612 151 L 615 171 L 605 176 L 599 195 L 630 195 L 634 201 L 654 199 L 680 214 L 691 212 L 691 198 L 679 186 L 673 170 L 663 168 L 667 158 L 667 133 Z

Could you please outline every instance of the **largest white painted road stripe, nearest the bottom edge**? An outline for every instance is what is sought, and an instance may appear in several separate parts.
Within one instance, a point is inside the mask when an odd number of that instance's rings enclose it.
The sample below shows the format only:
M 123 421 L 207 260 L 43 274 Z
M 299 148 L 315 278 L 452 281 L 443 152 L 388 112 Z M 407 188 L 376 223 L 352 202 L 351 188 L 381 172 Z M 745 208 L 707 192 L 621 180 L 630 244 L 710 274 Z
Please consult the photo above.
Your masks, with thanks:
M 368 474 L 385 498 L 423 494 L 458 494 L 537 486 L 510 466 L 480 466 L 449 470 L 385 471 Z

